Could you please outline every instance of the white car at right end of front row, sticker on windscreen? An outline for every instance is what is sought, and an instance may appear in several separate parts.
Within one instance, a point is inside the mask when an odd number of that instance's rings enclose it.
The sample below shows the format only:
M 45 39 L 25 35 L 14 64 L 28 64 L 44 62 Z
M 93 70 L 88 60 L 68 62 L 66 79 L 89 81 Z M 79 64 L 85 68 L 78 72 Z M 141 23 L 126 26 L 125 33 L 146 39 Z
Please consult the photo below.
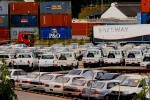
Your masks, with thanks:
M 120 98 L 131 100 L 143 90 L 143 86 L 149 87 L 148 76 L 136 75 L 128 77 L 120 85 L 111 88 L 112 92 L 108 95 L 108 99 L 118 99 L 120 95 Z M 149 92 L 146 94 L 146 98 L 149 98 Z

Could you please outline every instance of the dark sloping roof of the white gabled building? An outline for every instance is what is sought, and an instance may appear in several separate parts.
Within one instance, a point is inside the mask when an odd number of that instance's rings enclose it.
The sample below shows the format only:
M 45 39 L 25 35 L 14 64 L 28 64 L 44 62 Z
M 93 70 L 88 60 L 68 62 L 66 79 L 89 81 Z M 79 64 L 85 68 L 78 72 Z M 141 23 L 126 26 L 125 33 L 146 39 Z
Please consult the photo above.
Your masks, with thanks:
M 117 3 L 115 6 L 127 17 L 136 17 L 140 12 L 140 3 Z

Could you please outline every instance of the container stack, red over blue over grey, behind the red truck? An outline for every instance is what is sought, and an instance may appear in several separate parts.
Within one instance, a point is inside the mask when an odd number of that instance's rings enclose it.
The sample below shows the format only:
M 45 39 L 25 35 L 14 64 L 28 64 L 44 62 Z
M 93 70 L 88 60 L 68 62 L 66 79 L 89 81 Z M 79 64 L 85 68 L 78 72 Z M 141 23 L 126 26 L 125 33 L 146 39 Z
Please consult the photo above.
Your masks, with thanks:
M 39 3 L 10 3 L 11 39 L 17 39 L 20 32 L 39 34 L 38 11 Z

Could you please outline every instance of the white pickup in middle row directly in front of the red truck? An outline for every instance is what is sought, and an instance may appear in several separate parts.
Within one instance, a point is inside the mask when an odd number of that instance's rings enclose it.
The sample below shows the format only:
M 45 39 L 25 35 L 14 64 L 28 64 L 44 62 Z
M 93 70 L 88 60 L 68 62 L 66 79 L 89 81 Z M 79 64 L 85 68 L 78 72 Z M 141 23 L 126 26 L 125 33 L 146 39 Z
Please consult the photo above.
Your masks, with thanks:
M 18 53 L 16 59 L 13 60 L 14 67 L 27 68 L 27 70 L 33 70 L 38 67 L 38 59 L 33 53 Z

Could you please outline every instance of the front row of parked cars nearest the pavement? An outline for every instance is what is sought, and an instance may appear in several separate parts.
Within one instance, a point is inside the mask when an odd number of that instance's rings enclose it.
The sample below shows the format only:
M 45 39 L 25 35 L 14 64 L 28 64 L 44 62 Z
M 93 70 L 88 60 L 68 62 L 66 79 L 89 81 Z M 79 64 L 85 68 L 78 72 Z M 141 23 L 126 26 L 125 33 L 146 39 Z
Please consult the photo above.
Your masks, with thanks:
M 73 69 L 67 74 L 31 72 L 9 69 L 15 85 L 22 89 L 40 90 L 87 99 L 132 99 L 146 88 L 149 95 L 149 77 L 137 74 L 108 73 L 103 70 Z M 16 78 L 15 78 L 16 77 Z M 142 80 L 142 81 L 141 81 Z

